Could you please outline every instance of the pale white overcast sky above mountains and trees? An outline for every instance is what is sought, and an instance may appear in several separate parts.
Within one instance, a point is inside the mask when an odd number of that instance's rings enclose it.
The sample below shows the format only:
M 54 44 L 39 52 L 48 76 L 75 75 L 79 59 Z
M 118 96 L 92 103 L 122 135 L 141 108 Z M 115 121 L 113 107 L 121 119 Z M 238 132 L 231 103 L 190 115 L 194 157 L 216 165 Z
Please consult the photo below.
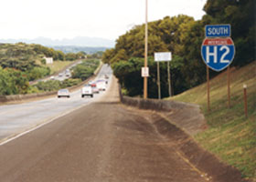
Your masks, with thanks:
M 201 19 L 207 0 L 148 0 L 148 21 L 166 15 Z M 110 40 L 145 22 L 145 0 L 3 0 L 0 39 L 76 36 Z

